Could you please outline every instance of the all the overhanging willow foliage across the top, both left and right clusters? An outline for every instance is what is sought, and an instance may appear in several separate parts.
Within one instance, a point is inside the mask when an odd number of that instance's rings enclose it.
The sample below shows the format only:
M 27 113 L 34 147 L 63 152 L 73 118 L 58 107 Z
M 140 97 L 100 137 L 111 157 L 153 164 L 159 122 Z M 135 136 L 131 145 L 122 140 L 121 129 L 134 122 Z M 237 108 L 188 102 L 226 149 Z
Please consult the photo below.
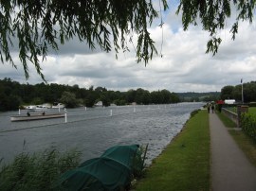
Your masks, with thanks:
M 164 10 L 168 9 L 166 0 L 159 2 Z M 210 32 L 207 53 L 215 55 L 222 41 L 218 33 L 225 27 L 231 7 L 236 9 L 236 19 L 230 28 L 234 40 L 239 21 L 252 22 L 255 4 L 255 1 L 237 0 L 181 0 L 176 13 L 182 14 L 184 30 L 200 22 L 202 29 Z M 109 52 L 114 48 L 118 54 L 120 49 L 129 51 L 127 43 L 137 34 L 137 61 L 146 64 L 157 54 L 148 27 L 158 16 L 152 0 L 3 0 L 0 2 L 0 59 L 16 67 L 10 53 L 14 45 L 26 78 L 29 77 L 27 63 L 31 61 L 45 79 L 39 58 L 44 61 L 48 50 L 58 50 L 60 43 L 77 37 L 91 49 L 99 46 Z

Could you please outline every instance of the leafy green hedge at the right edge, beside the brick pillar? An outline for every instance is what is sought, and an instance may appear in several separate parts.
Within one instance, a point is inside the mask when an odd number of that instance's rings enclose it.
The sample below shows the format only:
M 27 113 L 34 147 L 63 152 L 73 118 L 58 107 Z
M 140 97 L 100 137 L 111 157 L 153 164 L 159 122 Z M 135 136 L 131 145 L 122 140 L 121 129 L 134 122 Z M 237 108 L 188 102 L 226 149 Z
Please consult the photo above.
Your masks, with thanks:
M 254 113 L 243 113 L 240 126 L 256 142 L 256 115 Z

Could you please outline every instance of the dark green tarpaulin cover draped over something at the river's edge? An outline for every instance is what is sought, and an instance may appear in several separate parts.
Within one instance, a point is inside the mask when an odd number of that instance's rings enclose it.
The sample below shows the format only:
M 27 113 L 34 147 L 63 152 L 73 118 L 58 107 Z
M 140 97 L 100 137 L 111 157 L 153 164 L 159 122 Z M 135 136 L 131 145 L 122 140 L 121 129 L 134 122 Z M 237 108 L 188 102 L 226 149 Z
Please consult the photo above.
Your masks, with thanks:
M 130 185 L 143 162 L 138 145 L 108 148 L 99 158 L 85 161 L 65 172 L 56 188 L 60 190 L 120 190 Z

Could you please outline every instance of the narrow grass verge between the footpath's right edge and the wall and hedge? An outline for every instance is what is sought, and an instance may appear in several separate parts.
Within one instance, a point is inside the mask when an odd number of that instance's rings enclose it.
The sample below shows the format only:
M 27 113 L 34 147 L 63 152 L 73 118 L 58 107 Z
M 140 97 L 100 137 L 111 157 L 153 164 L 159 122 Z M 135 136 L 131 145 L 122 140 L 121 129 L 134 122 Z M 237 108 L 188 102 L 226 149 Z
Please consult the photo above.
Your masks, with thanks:
M 223 113 L 218 113 L 219 118 L 226 127 L 235 128 L 234 122 Z M 227 125 L 228 121 L 228 125 Z M 233 124 L 232 124 L 233 123 Z M 237 143 L 238 147 L 246 154 L 248 161 L 256 166 L 256 143 L 243 130 L 229 130 L 229 133 Z

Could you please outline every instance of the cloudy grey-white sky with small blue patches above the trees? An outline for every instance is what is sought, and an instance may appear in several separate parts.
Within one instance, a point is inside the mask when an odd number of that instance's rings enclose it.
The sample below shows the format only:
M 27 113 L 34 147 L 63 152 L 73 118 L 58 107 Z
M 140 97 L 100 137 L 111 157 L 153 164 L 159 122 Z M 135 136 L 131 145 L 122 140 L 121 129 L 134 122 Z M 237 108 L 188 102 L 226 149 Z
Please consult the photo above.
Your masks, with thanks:
M 157 5 L 156 5 L 157 6 Z M 235 41 L 231 40 L 229 21 L 226 29 L 220 31 L 222 43 L 218 53 L 206 54 L 209 33 L 199 26 L 190 26 L 184 31 L 181 15 L 176 15 L 176 5 L 155 20 L 149 28 L 160 55 L 155 55 L 145 66 L 137 63 L 132 44 L 130 52 L 91 51 L 86 43 L 73 40 L 60 46 L 58 52 L 48 54 L 41 63 L 47 83 L 105 87 L 107 90 L 128 91 L 169 90 L 174 93 L 220 92 L 224 86 L 255 81 L 256 77 L 256 26 L 240 23 Z M 37 75 L 33 65 L 28 64 L 30 77 L 25 78 L 18 55 L 13 53 L 18 69 L 9 63 L 0 64 L 0 79 L 11 78 L 20 83 L 36 84 L 44 80 Z

